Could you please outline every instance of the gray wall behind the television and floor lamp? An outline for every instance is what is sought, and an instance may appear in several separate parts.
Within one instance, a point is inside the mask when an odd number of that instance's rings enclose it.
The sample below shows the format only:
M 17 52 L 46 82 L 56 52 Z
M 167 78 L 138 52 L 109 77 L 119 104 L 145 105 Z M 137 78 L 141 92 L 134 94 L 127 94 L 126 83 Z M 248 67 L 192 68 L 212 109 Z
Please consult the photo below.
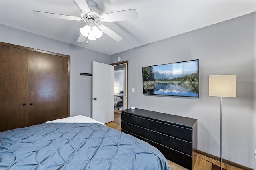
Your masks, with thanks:
M 198 119 L 198 150 L 220 156 L 220 97 L 209 75 L 237 74 L 237 97 L 223 98 L 222 157 L 253 167 L 254 13 L 111 56 L 129 60 L 129 108 Z M 143 95 L 142 67 L 199 59 L 200 98 Z M 135 88 L 135 93 L 132 93 Z

